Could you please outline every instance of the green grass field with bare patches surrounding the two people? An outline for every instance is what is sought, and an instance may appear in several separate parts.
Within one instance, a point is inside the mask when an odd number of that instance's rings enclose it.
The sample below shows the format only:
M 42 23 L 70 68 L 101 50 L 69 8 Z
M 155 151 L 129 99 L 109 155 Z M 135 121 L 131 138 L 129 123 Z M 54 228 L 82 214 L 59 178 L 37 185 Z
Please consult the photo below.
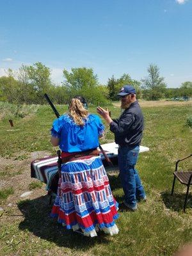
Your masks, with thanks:
M 158 103 L 157 103 L 158 104 Z M 0 123 L 0 255 L 173 255 L 180 246 L 192 242 L 192 196 L 186 214 L 182 212 L 186 188 L 178 182 L 170 195 L 175 161 L 191 154 L 190 102 L 166 106 L 143 104 L 145 132 L 137 168 L 147 192 L 136 212 L 120 212 L 116 221 L 120 233 L 109 237 L 100 233 L 93 239 L 83 237 L 49 218 L 51 207 L 45 185 L 30 177 L 30 163 L 38 157 L 54 155 L 49 130 L 55 118 L 49 106 L 39 106 L 35 113 Z M 60 113 L 67 106 L 58 106 Z M 95 112 L 95 108 L 90 108 Z M 113 117 L 120 115 L 118 104 L 111 107 Z M 113 141 L 106 125 L 105 138 Z M 191 169 L 191 161 L 180 164 Z M 123 200 L 120 180 L 109 172 L 113 195 Z M 31 191 L 27 198 L 20 198 Z M 191 194 L 190 194 L 191 195 Z

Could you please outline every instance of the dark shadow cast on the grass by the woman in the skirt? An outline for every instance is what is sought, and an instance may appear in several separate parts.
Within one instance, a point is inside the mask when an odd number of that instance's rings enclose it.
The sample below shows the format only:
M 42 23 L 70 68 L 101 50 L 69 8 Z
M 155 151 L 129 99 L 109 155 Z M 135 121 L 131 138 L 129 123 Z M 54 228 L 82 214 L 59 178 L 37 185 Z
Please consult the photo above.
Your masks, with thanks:
M 25 216 L 24 221 L 19 224 L 20 230 L 29 230 L 35 236 L 53 242 L 60 247 L 88 250 L 94 244 L 109 243 L 109 235 L 103 232 L 99 232 L 97 237 L 85 237 L 72 230 L 67 230 L 56 219 L 52 219 L 47 195 L 34 200 L 21 201 L 18 203 L 18 207 Z

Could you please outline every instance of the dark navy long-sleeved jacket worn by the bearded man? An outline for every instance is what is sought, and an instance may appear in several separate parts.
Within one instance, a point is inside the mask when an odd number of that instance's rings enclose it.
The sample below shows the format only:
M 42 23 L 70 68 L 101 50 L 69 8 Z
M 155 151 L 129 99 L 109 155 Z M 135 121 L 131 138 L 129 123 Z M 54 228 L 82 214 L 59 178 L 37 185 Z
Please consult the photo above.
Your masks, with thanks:
M 140 145 L 143 129 L 143 113 L 138 101 L 133 102 L 120 118 L 113 119 L 110 124 L 110 131 L 115 134 L 115 143 L 130 148 Z

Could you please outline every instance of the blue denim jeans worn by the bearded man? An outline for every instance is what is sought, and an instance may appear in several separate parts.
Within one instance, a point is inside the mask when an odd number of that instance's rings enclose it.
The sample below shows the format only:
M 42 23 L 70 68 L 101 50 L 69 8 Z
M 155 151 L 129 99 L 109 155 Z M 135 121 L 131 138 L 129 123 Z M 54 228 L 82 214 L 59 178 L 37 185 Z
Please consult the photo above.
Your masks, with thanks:
M 137 163 L 140 147 L 118 148 L 118 165 L 120 179 L 124 189 L 125 202 L 130 207 L 136 207 L 137 200 L 145 197 L 145 191 L 141 184 L 140 176 L 134 166 Z

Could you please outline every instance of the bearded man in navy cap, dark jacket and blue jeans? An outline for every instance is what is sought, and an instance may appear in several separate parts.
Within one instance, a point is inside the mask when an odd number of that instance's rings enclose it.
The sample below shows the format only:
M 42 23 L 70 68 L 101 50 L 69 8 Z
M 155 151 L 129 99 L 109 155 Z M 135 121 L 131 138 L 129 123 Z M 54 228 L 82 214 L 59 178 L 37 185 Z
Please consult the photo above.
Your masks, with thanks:
M 136 211 L 137 201 L 147 199 L 140 176 L 134 169 L 143 134 L 143 114 L 136 100 L 136 90 L 131 85 L 125 84 L 118 95 L 121 97 L 122 109 L 125 109 L 120 118 L 112 120 L 109 111 L 100 107 L 97 112 L 108 122 L 110 131 L 115 134 L 115 143 L 119 145 L 118 165 L 125 194 L 121 207 Z

